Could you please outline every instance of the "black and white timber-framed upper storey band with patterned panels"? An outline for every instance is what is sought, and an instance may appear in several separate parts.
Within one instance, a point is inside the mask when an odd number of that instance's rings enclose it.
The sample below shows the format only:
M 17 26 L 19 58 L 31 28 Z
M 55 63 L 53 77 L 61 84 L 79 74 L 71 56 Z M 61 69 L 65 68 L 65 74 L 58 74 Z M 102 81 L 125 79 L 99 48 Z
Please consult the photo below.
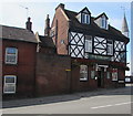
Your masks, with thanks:
M 89 59 L 89 55 L 109 56 L 111 61 L 125 62 L 126 45 L 122 41 L 69 32 L 69 55 Z

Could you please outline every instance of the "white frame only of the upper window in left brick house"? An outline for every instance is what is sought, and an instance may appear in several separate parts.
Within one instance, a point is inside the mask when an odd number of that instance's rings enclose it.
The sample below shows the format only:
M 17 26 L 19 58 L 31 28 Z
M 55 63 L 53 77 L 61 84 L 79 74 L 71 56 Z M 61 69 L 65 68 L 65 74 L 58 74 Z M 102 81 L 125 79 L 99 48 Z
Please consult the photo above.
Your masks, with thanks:
M 16 53 L 14 54 L 8 54 L 8 49 L 16 49 Z M 14 62 L 11 61 L 7 61 L 9 56 L 16 56 Z M 6 64 L 17 64 L 18 63 L 18 49 L 17 48 L 6 48 Z

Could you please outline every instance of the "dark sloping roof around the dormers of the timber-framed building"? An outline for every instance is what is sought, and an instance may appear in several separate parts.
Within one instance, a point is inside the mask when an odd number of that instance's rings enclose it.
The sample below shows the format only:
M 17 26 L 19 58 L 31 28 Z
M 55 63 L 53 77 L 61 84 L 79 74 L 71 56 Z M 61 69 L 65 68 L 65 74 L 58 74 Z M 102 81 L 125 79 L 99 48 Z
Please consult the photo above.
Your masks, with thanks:
M 73 12 L 70 10 L 64 10 L 64 12 L 70 20 L 70 29 L 73 31 L 79 31 L 81 33 L 86 33 L 86 34 L 91 33 L 94 35 L 100 35 L 112 40 L 120 40 L 125 42 L 130 41 L 129 38 L 126 38 L 121 33 L 121 31 L 116 30 L 110 24 L 108 30 L 101 29 L 100 27 L 98 27 L 96 23 L 94 23 L 93 17 L 91 17 L 91 24 L 82 24 L 76 19 L 78 12 Z

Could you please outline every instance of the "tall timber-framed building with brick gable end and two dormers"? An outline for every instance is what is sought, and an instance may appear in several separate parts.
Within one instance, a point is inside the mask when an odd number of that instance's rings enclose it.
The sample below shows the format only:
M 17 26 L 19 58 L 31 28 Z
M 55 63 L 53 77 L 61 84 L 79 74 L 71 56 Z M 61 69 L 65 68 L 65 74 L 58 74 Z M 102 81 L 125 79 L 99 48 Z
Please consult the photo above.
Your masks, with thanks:
M 104 12 L 94 18 L 86 7 L 79 12 L 62 3 L 55 8 L 50 35 L 57 53 L 71 56 L 72 91 L 124 86 L 130 41 L 125 20 L 122 33 Z

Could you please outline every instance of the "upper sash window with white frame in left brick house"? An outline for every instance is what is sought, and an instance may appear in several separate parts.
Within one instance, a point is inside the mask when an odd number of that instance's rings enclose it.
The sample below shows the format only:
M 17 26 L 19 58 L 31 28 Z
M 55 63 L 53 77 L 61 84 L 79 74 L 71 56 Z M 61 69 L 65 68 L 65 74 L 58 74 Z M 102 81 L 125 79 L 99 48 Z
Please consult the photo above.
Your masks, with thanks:
M 6 64 L 17 64 L 18 61 L 18 49 L 7 48 L 6 49 Z

